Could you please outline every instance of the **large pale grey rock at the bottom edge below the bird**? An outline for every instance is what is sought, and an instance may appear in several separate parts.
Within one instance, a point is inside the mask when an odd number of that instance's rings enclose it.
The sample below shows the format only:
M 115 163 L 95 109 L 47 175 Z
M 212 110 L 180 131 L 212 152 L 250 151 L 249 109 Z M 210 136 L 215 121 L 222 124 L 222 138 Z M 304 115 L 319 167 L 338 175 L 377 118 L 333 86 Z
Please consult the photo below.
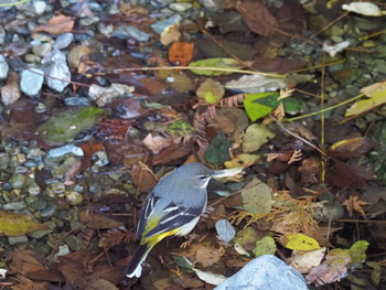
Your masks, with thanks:
M 265 255 L 248 262 L 215 290 L 308 290 L 300 272 L 279 258 Z

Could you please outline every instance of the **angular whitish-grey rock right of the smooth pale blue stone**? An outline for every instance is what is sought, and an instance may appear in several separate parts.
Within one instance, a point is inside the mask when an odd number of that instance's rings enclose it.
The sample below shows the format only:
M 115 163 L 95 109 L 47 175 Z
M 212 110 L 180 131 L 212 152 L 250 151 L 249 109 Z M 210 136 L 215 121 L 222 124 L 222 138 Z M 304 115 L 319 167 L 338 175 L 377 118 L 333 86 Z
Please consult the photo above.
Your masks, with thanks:
M 44 56 L 42 64 L 46 74 L 45 82 L 47 86 L 56 92 L 63 92 L 71 80 L 71 73 L 64 53 L 54 49 Z

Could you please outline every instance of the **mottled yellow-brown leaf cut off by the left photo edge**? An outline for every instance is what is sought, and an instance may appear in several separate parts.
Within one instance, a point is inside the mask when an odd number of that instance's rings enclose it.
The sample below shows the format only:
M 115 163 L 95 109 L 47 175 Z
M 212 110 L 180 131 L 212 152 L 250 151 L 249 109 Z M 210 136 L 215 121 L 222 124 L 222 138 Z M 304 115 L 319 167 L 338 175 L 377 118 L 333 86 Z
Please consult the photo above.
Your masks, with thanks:
M 29 215 L 0 211 L 0 234 L 8 237 L 22 236 L 46 227 L 44 224 L 34 222 Z

